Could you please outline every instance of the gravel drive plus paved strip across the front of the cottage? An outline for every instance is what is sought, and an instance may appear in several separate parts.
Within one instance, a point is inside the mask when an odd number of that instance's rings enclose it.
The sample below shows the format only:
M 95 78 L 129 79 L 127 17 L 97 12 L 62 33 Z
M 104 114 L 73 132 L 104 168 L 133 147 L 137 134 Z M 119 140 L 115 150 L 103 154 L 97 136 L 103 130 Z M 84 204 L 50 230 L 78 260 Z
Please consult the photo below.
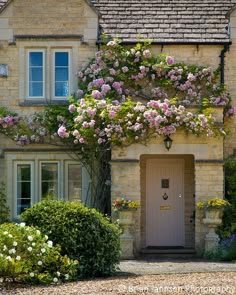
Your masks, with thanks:
M 0 287 L 0 294 L 236 294 L 236 264 L 199 263 L 197 261 L 173 260 L 123 261 L 120 267 L 121 272 L 113 278 L 100 278 L 54 286 L 14 286 L 8 290 Z M 172 266 L 171 271 L 168 268 L 170 266 Z M 195 272 L 193 272 L 194 270 Z

